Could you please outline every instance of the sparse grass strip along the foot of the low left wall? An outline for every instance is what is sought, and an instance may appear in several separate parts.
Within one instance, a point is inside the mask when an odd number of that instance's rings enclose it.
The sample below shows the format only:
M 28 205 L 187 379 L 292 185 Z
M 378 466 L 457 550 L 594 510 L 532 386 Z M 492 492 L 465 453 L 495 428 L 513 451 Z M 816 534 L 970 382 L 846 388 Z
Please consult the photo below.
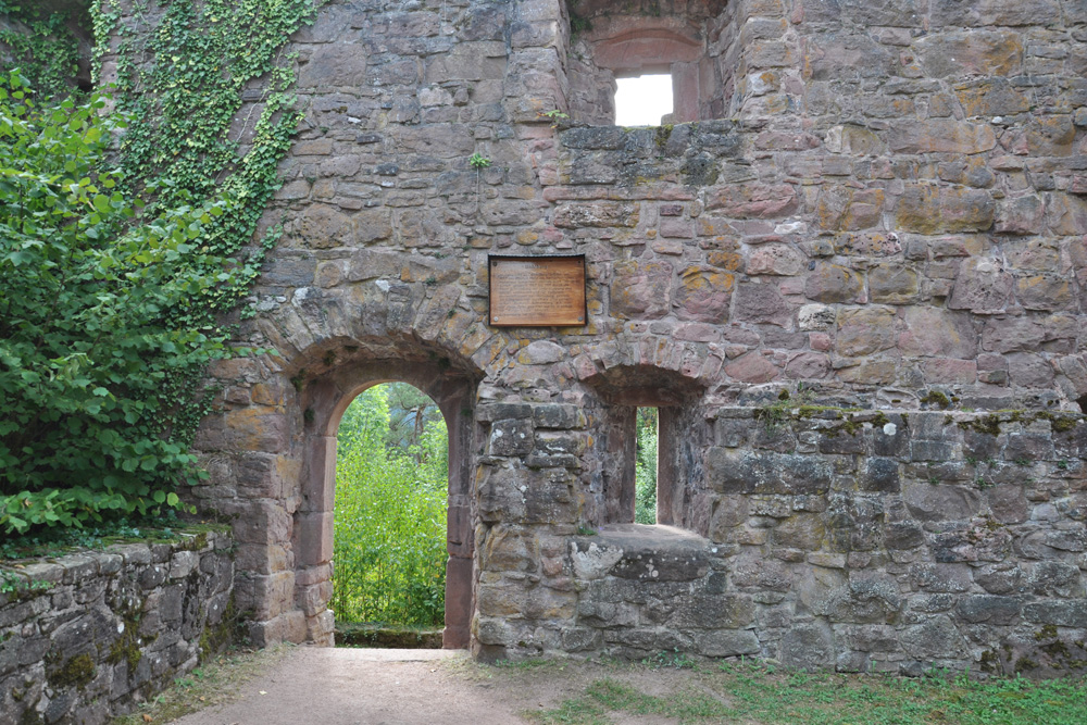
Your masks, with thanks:
M 247 682 L 282 660 L 292 645 L 276 645 L 263 650 L 233 650 L 204 663 L 174 680 L 170 689 L 145 702 L 110 725 L 167 723 L 189 713 L 237 700 Z

